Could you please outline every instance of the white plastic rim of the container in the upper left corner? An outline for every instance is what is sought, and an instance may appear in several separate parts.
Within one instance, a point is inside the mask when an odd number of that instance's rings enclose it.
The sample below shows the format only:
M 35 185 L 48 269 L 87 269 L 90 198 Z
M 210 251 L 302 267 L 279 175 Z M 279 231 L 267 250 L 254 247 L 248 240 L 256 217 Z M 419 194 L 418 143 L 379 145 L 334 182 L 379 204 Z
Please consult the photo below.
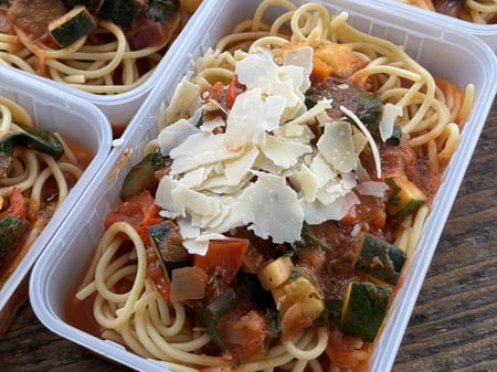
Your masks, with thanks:
M 202 2 L 209 2 L 209 0 L 204 0 Z M 199 7 L 199 10 L 202 7 L 207 7 L 207 4 L 202 3 Z M 197 13 L 197 12 L 195 12 Z M 197 18 L 195 13 L 190 18 L 186 28 L 193 26 L 195 23 L 194 19 Z M 96 93 L 89 93 L 76 87 L 73 87 L 68 84 L 55 82 L 45 77 L 41 77 L 39 75 L 34 75 L 28 72 L 21 71 L 22 74 L 31 76 L 38 81 L 44 82 L 53 87 L 64 91 L 67 94 L 81 97 L 86 99 L 94 105 L 96 105 L 101 110 L 104 111 L 109 123 L 116 128 L 116 131 L 120 132 L 130 121 L 133 116 L 139 109 L 140 105 L 144 103 L 147 95 L 150 93 L 151 88 L 156 85 L 159 77 L 163 74 L 163 70 L 173 63 L 170 53 L 177 49 L 182 49 L 184 44 L 184 35 L 183 32 L 180 32 L 176 40 L 169 45 L 167 53 L 160 60 L 159 64 L 152 71 L 150 76 L 145 79 L 140 85 L 134 87 L 133 89 L 118 93 L 114 95 L 101 95 Z M 0 68 L 14 68 L 9 66 L 1 65 Z

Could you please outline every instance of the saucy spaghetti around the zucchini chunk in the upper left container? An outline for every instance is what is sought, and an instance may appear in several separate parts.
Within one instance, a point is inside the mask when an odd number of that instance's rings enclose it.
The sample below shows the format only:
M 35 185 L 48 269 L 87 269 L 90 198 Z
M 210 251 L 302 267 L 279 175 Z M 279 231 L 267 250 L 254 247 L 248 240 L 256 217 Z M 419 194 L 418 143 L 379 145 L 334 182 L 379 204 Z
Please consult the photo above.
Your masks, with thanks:
M 78 2 L 11 1 L 0 6 L 0 63 L 93 94 L 131 91 L 150 76 L 199 4 L 195 0 L 156 2 L 140 4 L 129 24 L 121 24 L 118 18 L 119 11 L 126 15 L 129 10 L 116 8 L 118 14 L 108 19 L 88 6 L 95 29 L 59 46 L 49 33 L 49 24 Z M 157 7 L 162 3 L 166 10 L 158 14 Z M 77 28 L 74 25 L 74 30 Z

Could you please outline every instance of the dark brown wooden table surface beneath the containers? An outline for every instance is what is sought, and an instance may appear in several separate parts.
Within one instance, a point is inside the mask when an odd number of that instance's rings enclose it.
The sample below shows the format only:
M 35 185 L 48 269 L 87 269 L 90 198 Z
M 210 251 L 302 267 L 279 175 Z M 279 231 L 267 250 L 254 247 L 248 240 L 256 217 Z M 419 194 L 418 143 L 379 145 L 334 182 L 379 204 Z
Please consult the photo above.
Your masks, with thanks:
M 497 99 L 432 261 L 393 372 L 497 371 Z M 45 329 L 29 302 L 0 339 L 0 371 L 110 372 Z

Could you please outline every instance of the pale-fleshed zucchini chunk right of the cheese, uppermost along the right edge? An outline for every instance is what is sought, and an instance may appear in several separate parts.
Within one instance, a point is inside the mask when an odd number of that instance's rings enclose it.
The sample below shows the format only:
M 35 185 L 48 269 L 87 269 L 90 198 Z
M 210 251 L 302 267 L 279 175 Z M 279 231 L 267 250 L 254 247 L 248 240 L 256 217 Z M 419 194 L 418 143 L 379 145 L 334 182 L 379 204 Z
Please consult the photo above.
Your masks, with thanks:
M 405 174 L 392 174 L 385 180 L 392 188 L 387 203 L 390 215 L 406 215 L 417 211 L 426 202 L 426 195 Z

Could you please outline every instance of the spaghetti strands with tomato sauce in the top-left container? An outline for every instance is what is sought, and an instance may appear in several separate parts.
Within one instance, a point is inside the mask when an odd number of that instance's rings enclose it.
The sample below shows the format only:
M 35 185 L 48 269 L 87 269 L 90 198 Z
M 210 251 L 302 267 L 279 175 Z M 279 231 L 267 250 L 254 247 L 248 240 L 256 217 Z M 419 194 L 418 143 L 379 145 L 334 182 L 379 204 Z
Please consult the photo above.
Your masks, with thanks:
M 38 13 L 43 14 L 43 17 L 35 15 L 31 20 L 34 26 L 38 23 L 41 24 L 46 17 L 43 8 L 50 7 L 40 1 L 24 4 L 25 1 L 20 0 L 13 3 L 17 2 L 21 3 L 20 7 L 32 7 L 34 12 L 38 10 Z M 177 3 L 175 1 L 166 2 Z M 27 33 L 22 26 L 15 23 L 15 20 L 11 20 L 9 7 L 13 7 L 13 4 L 6 6 L 7 8 L 0 7 L 2 24 L 10 24 L 0 30 L 0 63 L 92 94 L 126 93 L 142 84 L 150 76 L 166 49 L 175 40 L 199 2 L 179 1 L 178 10 L 173 15 L 161 21 L 162 23 L 156 22 L 162 24 L 163 30 L 167 30 L 160 31 L 167 32 L 160 38 L 157 35 L 159 31 L 150 26 L 148 21 L 136 21 L 136 23 L 141 22 L 142 25 L 140 23 L 119 26 L 113 21 L 95 17 L 97 28 L 88 35 L 82 36 L 64 47 L 46 45 L 40 41 L 41 38 L 45 38 L 44 35 Z M 139 28 L 142 28 L 142 31 Z M 134 29 L 138 29 L 138 31 L 134 31 Z M 139 34 L 139 32 L 149 33 L 148 36 L 145 36 L 148 43 L 135 46 L 133 35 Z

